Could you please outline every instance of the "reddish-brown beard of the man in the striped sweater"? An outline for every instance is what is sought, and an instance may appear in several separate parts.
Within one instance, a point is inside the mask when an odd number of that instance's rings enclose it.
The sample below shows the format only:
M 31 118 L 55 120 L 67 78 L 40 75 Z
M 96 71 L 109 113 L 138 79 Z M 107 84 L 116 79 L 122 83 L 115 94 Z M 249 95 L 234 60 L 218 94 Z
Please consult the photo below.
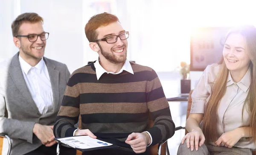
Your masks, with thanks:
M 111 63 L 118 64 L 118 63 L 124 63 L 127 58 L 127 52 L 124 55 L 120 55 L 119 57 L 116 55 L 113 55 L 113 53 L 106 52 L 102 49 L 102 46 L 99 45 L 99 49 L 101 54 Z M 112 48 L 111 48 L 112 49 Z M 126 50 L 126 45 L 124 45 L 124 50 Z

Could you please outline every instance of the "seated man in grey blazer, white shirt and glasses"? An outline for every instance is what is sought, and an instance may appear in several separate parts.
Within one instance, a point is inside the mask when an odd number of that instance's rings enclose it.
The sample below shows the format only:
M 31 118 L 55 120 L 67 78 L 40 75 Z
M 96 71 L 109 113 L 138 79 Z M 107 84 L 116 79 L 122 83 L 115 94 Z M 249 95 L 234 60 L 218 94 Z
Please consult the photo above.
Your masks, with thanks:
M 52 128 L 70 72 L 44 57 L 49 33 L 42 24 L 36 13 L 20 14 L 12 23 L 19 52 L 0 63 L 0 133 L 12 139 L 11 155 L 56 155 Z M 61 151 L 76 154 L 71 148 Z

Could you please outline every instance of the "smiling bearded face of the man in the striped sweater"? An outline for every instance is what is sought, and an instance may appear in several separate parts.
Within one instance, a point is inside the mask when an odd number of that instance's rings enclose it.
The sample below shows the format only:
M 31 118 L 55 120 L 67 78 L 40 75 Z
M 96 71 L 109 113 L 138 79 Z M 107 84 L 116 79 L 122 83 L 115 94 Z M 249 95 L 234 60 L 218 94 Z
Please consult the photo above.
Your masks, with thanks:
M 125 30 L 119 22 L 113 22 L 107 26 L 100 26 L 97 30 L 98 39 L 102 39 L 111 35 L 119 35 Z M 106 41 L 98 41 L 99 57 L 105 58 L 108 62 L 118 64 L 124 63 L 127 57 L 127 40 L 117 38 L 116 43 L 107 43 Z

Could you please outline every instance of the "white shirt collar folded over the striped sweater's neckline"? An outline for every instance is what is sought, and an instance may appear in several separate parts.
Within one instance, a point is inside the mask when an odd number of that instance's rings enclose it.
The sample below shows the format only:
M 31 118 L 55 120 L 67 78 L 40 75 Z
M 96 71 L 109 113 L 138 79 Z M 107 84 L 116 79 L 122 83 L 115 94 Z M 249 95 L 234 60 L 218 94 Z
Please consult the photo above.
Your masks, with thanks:
M 132 67 L 131 67 L 131 63 L 129 62 L 129 60 L 125 60 L 124 65 L 122 66 L 122 68 L 120 69 L 119 72 L 114 73 L 114 72 L 107 72 L 100 64 L 99 64 L 99 60 L 96 60 L 96 62 L 94 63 L 95 69 L 96 69 L 96 76 L 97 76 L 97 80 L 99 80 L 99 78 L 104 74 L 104 73 L 110 73 L 110 74 L 119 74 L 122 73 L 123 70 L 134 74 Z

